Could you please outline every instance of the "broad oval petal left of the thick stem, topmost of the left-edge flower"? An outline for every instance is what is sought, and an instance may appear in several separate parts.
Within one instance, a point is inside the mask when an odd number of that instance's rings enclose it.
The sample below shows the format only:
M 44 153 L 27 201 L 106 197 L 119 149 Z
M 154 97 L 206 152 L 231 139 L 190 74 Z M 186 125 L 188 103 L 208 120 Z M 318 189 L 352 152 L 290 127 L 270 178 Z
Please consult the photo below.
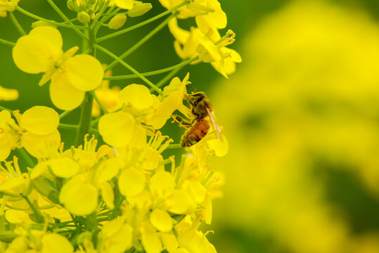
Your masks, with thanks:
M 46 106 L 33 106 L 20 118 L 20 126 L 32 134 L 50 134 L 59 124 L 58 112 Z

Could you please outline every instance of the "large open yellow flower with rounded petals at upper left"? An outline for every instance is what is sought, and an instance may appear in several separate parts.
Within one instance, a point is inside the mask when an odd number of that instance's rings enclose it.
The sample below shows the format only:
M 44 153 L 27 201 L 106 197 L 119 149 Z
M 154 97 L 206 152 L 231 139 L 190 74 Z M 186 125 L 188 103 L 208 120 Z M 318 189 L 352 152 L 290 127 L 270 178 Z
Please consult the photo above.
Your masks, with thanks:
M 60 32 L 53 27 L 36 27 L 20 37 L 13 47 L 13 60 L 30 74 L 44 72 L 39 85 L 51 79 L 50 96 L 57 108 L 72 110 L 82 103 L 85 91 L 96 89 L 103 79 L 103 67 L 93 56 L 81 54 L 75 46 L 63 53 Z

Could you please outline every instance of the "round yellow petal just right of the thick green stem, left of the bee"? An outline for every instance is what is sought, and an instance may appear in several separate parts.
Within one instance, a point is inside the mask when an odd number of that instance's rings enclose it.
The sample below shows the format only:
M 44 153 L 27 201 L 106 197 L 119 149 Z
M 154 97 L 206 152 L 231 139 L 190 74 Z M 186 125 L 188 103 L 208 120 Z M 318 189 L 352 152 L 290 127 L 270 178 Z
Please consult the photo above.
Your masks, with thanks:
M 125 112 L 108 113 L 98 122 L 98 131 L 105 143 L 123 147 L 131 140 L 134 129 L 134 117 Z

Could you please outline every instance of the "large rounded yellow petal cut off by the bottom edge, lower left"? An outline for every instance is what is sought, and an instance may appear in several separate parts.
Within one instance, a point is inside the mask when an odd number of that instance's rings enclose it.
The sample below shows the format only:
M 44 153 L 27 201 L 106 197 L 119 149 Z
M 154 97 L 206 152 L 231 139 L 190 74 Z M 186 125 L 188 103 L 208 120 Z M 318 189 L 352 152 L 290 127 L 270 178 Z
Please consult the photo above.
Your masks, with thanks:
M 41 253 L 72 253 L 74 247 L 71 242 L 63 235 L 48 233 L 42 238 Z

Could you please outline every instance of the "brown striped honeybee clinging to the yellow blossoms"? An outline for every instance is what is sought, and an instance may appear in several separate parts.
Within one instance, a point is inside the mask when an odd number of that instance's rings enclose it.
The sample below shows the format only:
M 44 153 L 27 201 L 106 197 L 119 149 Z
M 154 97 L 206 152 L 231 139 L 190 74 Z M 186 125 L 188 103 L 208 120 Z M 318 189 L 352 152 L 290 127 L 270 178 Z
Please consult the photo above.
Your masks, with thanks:
M 191 105 L 191 112 L 193 119 L 190 121 L 184 119 L 179 115 L 172 117 L 179 125 L 188 129 L 181 137 L 181 147 L 191 147 L 203 139 L 212 126 L 216 138 L 221 139 L 222 130 L 213 115 L 212 103 L 208 100 L 204 92 L 191 93 L 184 97 Z M 205 119 L 209 117 L 209 121 Z M 222 140 L 221 140 L 222 141 Z

